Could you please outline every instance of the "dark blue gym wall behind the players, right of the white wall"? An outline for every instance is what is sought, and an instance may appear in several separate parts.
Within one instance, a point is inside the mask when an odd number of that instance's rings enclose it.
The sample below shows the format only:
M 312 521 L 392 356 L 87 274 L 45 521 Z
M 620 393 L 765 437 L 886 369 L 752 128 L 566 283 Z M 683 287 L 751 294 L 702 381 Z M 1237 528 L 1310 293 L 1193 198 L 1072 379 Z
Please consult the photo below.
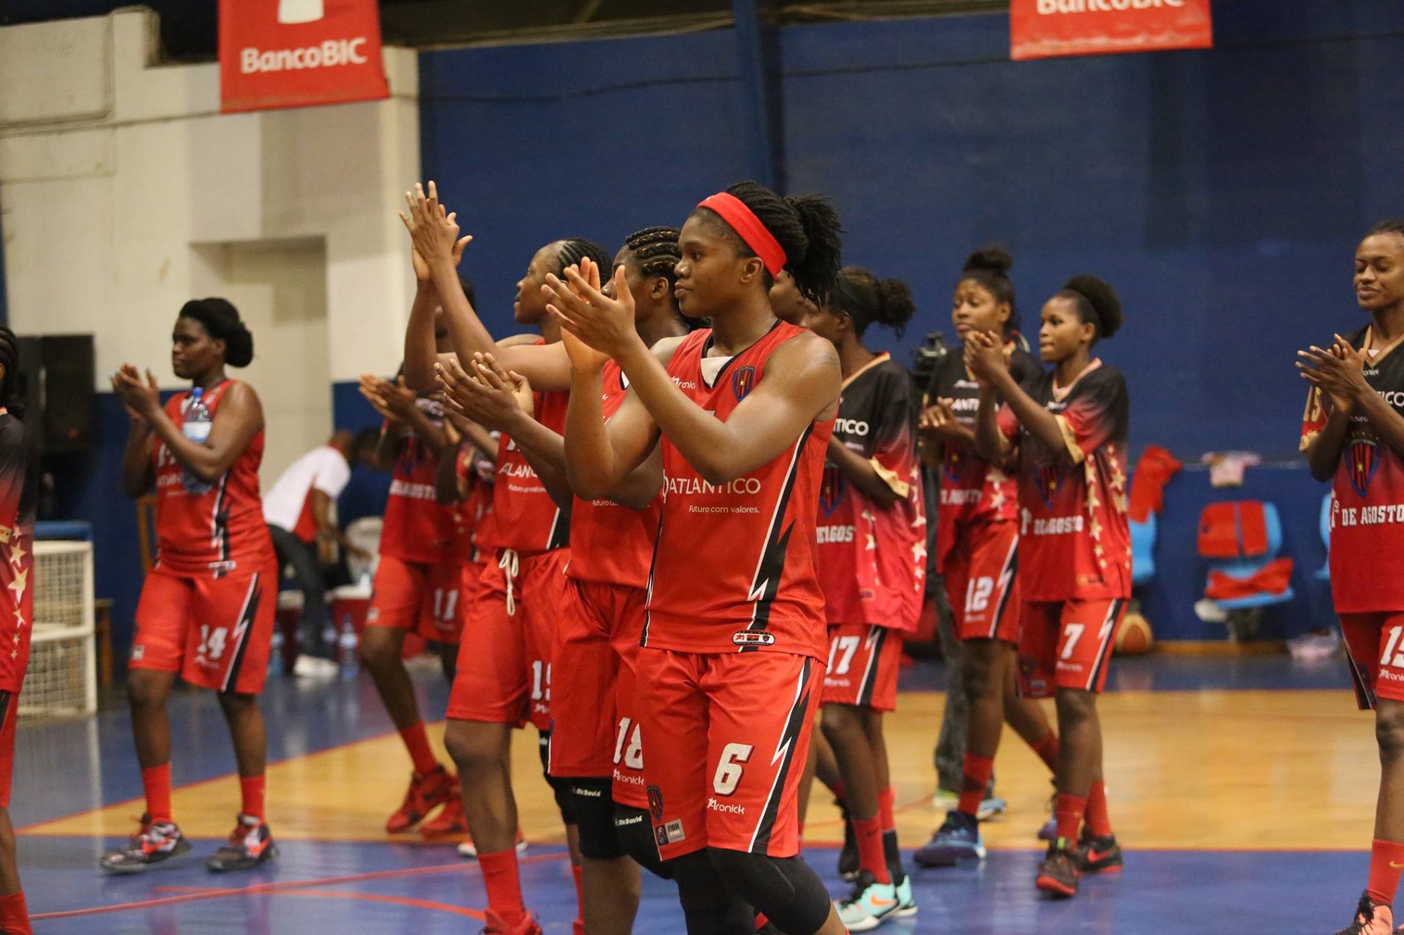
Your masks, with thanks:
M 834 198 L 848 262 L 911 283 L 922 314 L 889 345 L 903 356 L 949 329 L 981 243 L 1012 250 L 1026 321 L 1067 276 L 1109 279 L 1127 324 L 1102 355 L 1127 374 L 1133 449 L 1269 461 L 1227 496 L 1202 471 L 1174 481 L 1147 615 L 1161 636 L 1221 635 L 1189 610 L 1195 523 L 1254 496 L 1278 502 L 1299 558 L 1299 600 L 1265 624 L 1293 635 L 1330 618 L 1293 353 L 1362 322 L 1355 243 L 1404 213 L 1404 4 L 1238 0 L 1214 17 L 1213 50 L 1035 63 L 1008 60 L 1002 15 L 789 27 L 786 172 Z M 681 223 L 747 165 L 730 32 L 432 52 L 420 87 L 424 171 L 476 236 L 468 269 L 501 334 L 538 245 Z

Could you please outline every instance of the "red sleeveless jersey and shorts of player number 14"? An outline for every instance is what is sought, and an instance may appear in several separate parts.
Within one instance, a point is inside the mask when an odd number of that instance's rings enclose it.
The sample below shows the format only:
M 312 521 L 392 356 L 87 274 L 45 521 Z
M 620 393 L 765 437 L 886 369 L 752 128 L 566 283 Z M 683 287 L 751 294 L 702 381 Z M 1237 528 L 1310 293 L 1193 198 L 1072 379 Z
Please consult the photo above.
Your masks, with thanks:
M 204 394 L 209 415 L 234 385 Z M 190 393 L 166 404 L 177 426 Z M 136 607 L 131 669 L 178 671 L 215 691 L 257 694 L 268 674 L 278 594 L 278 559 L 258 492 L 263 429 L 213 484 L 191 477 L 160 439 L 156 467 L 156 566 Z

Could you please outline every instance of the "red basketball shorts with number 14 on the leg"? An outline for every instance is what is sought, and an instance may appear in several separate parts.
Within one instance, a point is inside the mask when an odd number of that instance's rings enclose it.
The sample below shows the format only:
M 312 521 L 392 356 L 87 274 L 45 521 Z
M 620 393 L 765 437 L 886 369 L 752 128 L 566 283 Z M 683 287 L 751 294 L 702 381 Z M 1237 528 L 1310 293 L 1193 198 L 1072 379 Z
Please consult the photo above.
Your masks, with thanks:
M 178 671 L 192 685 L 258 694 L 268 676 L 278 569 L 227 578 L 146 575 L 129 669 Z

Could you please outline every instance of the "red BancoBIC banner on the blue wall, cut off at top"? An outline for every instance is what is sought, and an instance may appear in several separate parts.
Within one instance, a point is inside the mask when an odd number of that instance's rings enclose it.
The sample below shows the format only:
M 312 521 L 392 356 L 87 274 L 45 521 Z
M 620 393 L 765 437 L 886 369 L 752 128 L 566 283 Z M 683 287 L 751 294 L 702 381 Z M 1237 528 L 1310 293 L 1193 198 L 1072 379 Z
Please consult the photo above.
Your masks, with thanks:
M 1209 0 L 1009 0 L 1014 59 L 1207 49 Z

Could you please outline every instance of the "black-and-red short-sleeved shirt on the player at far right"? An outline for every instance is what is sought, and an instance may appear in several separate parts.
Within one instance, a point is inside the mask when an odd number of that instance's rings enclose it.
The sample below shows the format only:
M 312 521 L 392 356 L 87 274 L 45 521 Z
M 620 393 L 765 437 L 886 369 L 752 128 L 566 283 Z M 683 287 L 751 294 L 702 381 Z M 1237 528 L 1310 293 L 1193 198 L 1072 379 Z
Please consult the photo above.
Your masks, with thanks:
M 1370 328 L 1351 335 L 1369 348 Z M 1404 415 L 1404 350 L 1400 342 L 1366 355 L 1365 381 Z M 1302 449 L 1325 426 L 1331 401 L 1307 398 Z M 1332 484 L 1331 596 L 1338 614 L 1404 610 L 1404 461 L 1380 439 L 1370 419 L 1353 415 Z

